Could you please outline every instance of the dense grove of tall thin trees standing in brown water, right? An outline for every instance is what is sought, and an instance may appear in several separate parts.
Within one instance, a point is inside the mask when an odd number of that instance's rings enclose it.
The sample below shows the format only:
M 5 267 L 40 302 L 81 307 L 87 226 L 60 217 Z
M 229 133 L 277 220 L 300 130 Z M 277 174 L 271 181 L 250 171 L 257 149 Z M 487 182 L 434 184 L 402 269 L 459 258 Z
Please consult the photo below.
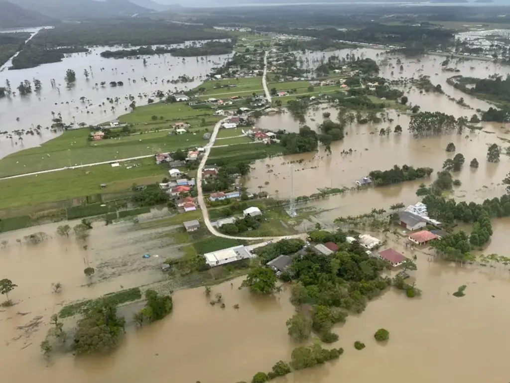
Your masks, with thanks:
M 409 131 L 413 137 L 432 137 L 457 132 L 462 134 L 467 120 L 442 112 L 419 112 L 411 115 Z

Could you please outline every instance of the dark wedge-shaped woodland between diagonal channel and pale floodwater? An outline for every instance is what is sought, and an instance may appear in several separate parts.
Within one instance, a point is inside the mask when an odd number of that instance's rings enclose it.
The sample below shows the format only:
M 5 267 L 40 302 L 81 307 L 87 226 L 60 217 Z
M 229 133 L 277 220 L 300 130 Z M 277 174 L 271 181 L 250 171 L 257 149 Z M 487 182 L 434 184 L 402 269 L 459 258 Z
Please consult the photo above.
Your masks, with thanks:
M 79 52 L 89 52 L 89 49 L 80 46 L 45 48 L 29 43 L 12 59 L 12 66 L 9 69 L 25 69 L 41 64 L 58 63 L 64 59 L 65 55 Z

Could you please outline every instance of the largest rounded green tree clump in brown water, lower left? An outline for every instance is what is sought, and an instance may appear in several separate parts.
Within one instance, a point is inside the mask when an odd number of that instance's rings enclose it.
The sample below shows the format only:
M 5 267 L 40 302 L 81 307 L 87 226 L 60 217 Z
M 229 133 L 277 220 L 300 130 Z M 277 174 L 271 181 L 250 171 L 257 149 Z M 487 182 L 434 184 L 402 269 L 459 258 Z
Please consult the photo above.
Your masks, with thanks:
M 124 333 L 125 319 L 117 315 L 117 307 L 105 300 L 87 306 L 78 321 L 74 349 L 78 354 L 113 349 Z

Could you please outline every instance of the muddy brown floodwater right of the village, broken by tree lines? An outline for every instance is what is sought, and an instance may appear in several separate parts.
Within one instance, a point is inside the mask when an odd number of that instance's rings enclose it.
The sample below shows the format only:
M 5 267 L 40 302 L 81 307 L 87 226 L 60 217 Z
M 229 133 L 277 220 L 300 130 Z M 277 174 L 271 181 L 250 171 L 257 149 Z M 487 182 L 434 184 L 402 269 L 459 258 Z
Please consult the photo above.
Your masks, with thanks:
M 381 57 L 380 50 L 364 49 L 364 52 L 365 57 L 370 57 L 371 54 L 375 55 L 375 53 L 379 53 L 379 58 Z M 324 55 L 334 53 L 328 52 Z M 358 55 L 357 51 L 355 53 Z M 314 56 L 310 53 L 308 56 L 310 56 L 310 63 L 314 60 L 317 63 L 317 54 Z M 375 56 L 373 58 L 376 59 Z M 395 63 L 395 61 L 396 58 L 393 57 L 392 62 Z M 446 94 L 457 99 L 464 97 L 465 102 L 474 109 L 487 110 L 490 105 L 486 101 L 473 98 L 446 84 L 446 79 L 457 73 L 441 72 L 441 61 L 442 58 L 434 56 L 426 56 L 421 60 L 421 63 L 413 60 L 403 60 L 403 73 L 398 73 L 398 68 L 394 73 L 395 76 L 399 75 L 403 78 L 410 78 L 413 75 L 416 77 L 420 73 L 432 73 L 430 79 L 432 84 L 441 84 Z M 416 72 L 422 66 L 425 68 L 423 72 Z M 455 64 L 450 66 L 454 67 Z M 457 65 L 461 69 L 460 73 L 465 75 L 473 75 L 470 69 L 471 66 L 483 71 L 482 74 L 479 71 L 476 72 L 479 77 L 489 76 L 494 72 L 508 72 L 508 67 L 501 67 L 486 61 L 459 61 Z M 383 67 L 381 75 L 391 78 L 390 69 Z M 438 76 L 433 75 L 435 71 L 439 73 Z M 406 88 L 405 91 L 410 103 L 419 105 L 422 111 L 440 111 L 452 114 L 455 117 L 466 116 L 468 119 L 476 113 L 473 109 L 462 107 L 456 104 L 455 101 L 448 100 L 446 95 L 420 93 L 415 88 L 411 90 Z M 324 120 L 323 112 L 329 112 L 331 120 L 336 121 L 338 115 L 336 109 L 324 105 L 310 109 L 305 123 L 316 130 L 317 126 Z M 262 186 L 261 190 L 276 198 L 289 198 L 292 190 L 290 164 L 293 163 L 294 196 L 310 195 L 316 193 L 318 188 L 351 188 L 354 186 L 355 180 L 366 176 L 371 170 L 388 170 L 393 165 L 427 166 L 437 172 L 441 170 L 442 164 L 447 158 L 452 158 L 456 153 L 462 153 L 466 158 L 464 168 L 458 173 L 453 173 L 453 178 L 458 178 L 462 182 L 462 186 L 456 187 L 454 190 L 453 195 L 455 197 L 480 202 L 483 199 L 500 196 L 504 193 L 501 181 L 508 172 L 508 157 L 504 155 L 504 152 L 505 148 L 510 145 L 499 137 L 510 138 L 508 137 L 509 124 L 483 122 L 478 124 L 482 127 L 482 130 L 470 132 L 466 129 L 462 135 L 452 134 L 416 139 L 407 131 L 410 114 L 400 114 L 394 110 L 389 110 L 387 114 L 385 112 L 380 116 L 384 118 L 378 124 L 359 125 L 353 123 L 351 126 L 347 126 L 345 138 L 331 144 L 330 155 L 324 150 L 324 147 L 320 147 L 317 154 L 305 153 L 257 161 L 252 165 L 252 170 L 246 178 L 246 187 L 252 192 L 258 192 L 260 190 L 259 186 Z M 393 121 L 390 122 L 390 119 L 393 119 Z M 397 124 L 402 126 L 403 133 L 401 135 L 393 133 Z M 270 130 L 285 129 L 288 132 L 297 132 L 300 125 L 290 113 L 283 113 L 263 116 L 256 126 Z M 381 128 L 387 129 L 388 127 L 392 132 L 389 137 L 379 136 L 378 131 Z M 449 154 L 445 151 L 449 142 L 455 144 L 455 153 Z M 503 148 L 498 164 L 491 164 L 486 161 L 487 149 L 493 143 L 497 143 Z M 349 149 L 353 150 L 352 154 L 342 154 L 342 151 L 348 151 Z M 469 167 L 469 162 L 473 158 L 476 158 L 480 164 L 476 170 Z M 418 185 L 422 182 L 429 183 L 433 179 L 434 176 L 430 179 L 404 182 L 391 187 L 347 192 L 324 200 L 311 201 L 307 205 L 329 210 L 329 212 L 321 215 L 326 221 L 339 216 L 358 215 L 370 210 L 366 208 L 367 202 L 370 208 L 388 208 L 390 205 L 399 202 L 405 204 L 415 203 L 418 199 L 415 195 Z

